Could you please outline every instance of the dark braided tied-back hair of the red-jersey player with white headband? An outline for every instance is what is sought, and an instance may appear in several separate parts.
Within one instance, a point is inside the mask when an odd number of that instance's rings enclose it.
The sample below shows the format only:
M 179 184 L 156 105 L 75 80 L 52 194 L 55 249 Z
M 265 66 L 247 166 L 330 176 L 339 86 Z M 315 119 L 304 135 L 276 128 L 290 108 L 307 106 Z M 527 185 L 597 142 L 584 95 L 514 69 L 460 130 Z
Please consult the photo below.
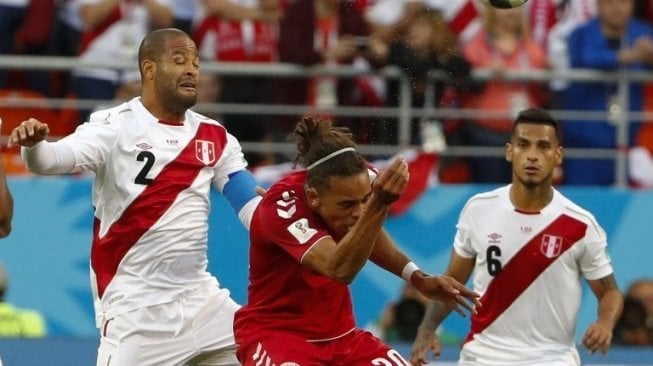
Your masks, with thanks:
M 304 167 L 335 151 L 356 145 L 348 128 L 335 127 L 329 120 L 313 117 L 303 117 L 288 138 L 297 144 L 294 162 Z M 330 177 L 350 177 L 366 168 L 363 156 L 357 151 L 347 151 L 309 169 L 308 184 L 326 188 Z

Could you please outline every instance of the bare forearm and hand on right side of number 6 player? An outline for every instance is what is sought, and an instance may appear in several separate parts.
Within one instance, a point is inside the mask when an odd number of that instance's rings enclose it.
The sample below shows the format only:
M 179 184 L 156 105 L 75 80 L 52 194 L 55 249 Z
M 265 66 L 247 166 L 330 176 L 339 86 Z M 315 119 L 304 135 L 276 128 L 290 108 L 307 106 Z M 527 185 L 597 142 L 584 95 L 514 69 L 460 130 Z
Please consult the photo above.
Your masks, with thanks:
M 623 310 L 623 295 L 614 278 L 614 274 L 598 280 L 587 281 L 598 299 L 598 318 L 583 335 L 583 345 L 590 353 L 605 354 L 612 343 L 614 329 Z

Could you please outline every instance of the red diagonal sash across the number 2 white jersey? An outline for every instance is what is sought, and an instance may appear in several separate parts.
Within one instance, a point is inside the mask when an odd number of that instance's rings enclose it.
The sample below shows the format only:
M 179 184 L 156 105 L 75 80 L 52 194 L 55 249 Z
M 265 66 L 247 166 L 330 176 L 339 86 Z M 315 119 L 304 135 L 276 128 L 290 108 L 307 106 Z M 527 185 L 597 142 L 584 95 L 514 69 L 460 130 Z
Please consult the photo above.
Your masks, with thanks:
M 179 193 L 188 189 L 206 166 L 197 158 L 196 141 L 198 140 L 214 142 L 215 156 L 219 157 L 227 144 L 227 134 L 224 128 L 201 123 L 195 137 L 132 201 L 102 238 L 99 236 L 100 220 L 95 219 L 91 266 L 97 278 L 100 298 L 129 249 L 159 221 Z M 217 160 L 213 159 L 213 162 Z

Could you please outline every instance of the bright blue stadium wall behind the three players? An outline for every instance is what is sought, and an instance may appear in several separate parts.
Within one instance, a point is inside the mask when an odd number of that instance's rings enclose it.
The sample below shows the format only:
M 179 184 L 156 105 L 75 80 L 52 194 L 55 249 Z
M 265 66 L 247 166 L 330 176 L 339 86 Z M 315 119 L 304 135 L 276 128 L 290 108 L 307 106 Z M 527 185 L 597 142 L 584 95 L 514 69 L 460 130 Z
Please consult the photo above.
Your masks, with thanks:
M 95 337 L 89 287 L 92 224 L 91 180 L 88 177 L 10 179 L 15 199 L 14 230 L 0 241 L 0 261 L 11 275 L 8 300 L 42 311 L 49 334 Z M 424 269 L 439 273 L 449 257 L 458 212 L 472 194 L 492 188 L 481 185 L 440 186 L 387 230 Z M 653 191 L 561 187 L 563 193 L 592 211 L 608 233 L 609 250 L 622 288 L 639 277 L 653 277 Z M 246 301 L 247 233 L 221 196 L 215 194 L 211 214 L 210 271 Z M 396 298 L 401 280 L 368 264 L 352 285 L 359 325 L 365 326 Z M 585 286 L 577 335 L 594 319 L 596 300 Z M 445 330 L 457 337 L 467 318 L 452 315 Z

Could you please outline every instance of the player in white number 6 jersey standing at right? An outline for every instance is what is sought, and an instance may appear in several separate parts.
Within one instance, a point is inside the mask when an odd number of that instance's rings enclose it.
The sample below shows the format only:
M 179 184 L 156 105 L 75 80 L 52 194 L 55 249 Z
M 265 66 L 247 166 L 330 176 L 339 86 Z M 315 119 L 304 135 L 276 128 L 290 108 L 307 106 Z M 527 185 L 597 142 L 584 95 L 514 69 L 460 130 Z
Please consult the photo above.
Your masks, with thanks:
M 582 342 L 607 352 L 623 298 L 606 235 L 594 216 L 552 186 L 562 163 L 558 122 L 542 109 L 517 117 L 506 160 L 512 184 L 472 197 L 462 210 L 446 274 L 473 288 L 481 306 L 460 352 L 460 365 L 580 365 L 574 333 L 581 277 L 598 299 Z M 450 313 L 429 303 L 413 344 L 413 365 L 438 355 L 435 329 Z

